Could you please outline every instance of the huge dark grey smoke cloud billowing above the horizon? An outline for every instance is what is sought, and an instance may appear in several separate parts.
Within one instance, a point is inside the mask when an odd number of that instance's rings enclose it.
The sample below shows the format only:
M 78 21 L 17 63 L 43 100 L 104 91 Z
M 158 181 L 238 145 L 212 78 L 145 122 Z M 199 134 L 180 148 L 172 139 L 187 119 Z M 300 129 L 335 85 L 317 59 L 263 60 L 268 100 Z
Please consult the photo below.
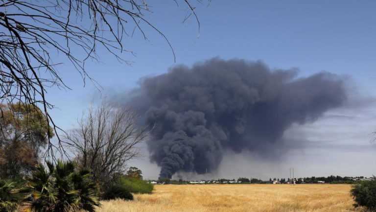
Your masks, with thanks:
M 343 79 L 329 72 L 297 78 L 296 70 L 213 58 L 143 79 L 130 103 L 156 126 L 151 161 L 162 167 L 160 178 L 171 178 L 216 170 L 227 149 L 278 148 L 293 123 L 314 121 L 346 97 Z

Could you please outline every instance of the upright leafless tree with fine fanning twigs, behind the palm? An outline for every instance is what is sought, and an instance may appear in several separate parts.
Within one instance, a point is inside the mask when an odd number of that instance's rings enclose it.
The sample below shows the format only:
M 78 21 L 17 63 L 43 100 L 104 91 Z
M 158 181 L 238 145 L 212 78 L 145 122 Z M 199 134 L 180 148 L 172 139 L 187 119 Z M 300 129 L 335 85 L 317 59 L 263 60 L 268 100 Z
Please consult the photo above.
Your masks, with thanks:
M 127 162 L 140 156 L 137 146 L 149 134 L 139 127 L 130 108 L 114 107 L 105 101 L 78 119 L 78 128 L 65 136 L 67 147 L 79 165 L 93 170 L 96 181 L 106 184 L 125 173 Z

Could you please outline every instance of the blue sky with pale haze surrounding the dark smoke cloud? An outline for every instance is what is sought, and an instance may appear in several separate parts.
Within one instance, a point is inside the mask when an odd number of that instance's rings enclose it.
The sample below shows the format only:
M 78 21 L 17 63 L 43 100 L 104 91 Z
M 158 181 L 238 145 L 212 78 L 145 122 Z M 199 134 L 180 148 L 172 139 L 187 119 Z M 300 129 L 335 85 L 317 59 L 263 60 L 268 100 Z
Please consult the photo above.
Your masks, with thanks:
M 300 76 L 318 71 L 347 75 L 353 91 L 352 107 L 329 111 L 317 122 L 286 133 L 286 139 L 312 141 L 305 142 L 304 148 L 292 148 L 279 162 L 230 152 L 218 173 L 211 176 L 287 178 L 290 166 L 296 168 L 298 176 L 373 174 L 367 167 L 373 165 L 371 162 L 359 164 L 376 159 L 369 135 L 376 129 L 376 1 L 212 0 L 209 6 L 196 5 L 200 32 L 193 18 L 182 24 L 186 14 L 183 1 L 180 7 L 172 0 L 150 4 L 154 13 L 146 14 L 146 19 L 166 35 L 176 63 L 157 32 L 145 28 L 149 42 L 136 31 L 124 44 L 137 56 L 122 55 L 134 61 L 132 66 L 118 63 L 104 49 L 98 50 L 100 63 L 87 63 L 87 71 L 103 87 L 102 96 L 135 88 L 140 78 L 165 73 L 177 64 L 190 66 L 216 56 L 262 60 L 276 69 L 296 67 Z M 58 70 L 72 90 L 48 90 L 50 102 L 59 108 L 50 113 L 59 126 L 69 130 L 100 92 L 90 82 L 83 87 L 71 65 L 60 65 Z M 158 177 L 159 169 L 148 162 L 146 152 L 143 159 L 133 163 L 147 178 Z M 244 163 L 250 164 L 249 169 L 240 168 Z M 260 170 L 258 174 L 255 169 Z

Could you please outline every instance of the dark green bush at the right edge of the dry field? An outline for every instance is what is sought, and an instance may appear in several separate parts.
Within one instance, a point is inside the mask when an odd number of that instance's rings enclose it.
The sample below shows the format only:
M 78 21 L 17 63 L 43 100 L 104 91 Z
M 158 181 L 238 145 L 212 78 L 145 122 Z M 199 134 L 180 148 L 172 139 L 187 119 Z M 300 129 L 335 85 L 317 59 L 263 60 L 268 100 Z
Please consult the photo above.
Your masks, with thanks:
M 365 207 L 369 211 L 376 211 L 376 177 L 353 185 L 350 194 L 355 201 L 355 208 Z

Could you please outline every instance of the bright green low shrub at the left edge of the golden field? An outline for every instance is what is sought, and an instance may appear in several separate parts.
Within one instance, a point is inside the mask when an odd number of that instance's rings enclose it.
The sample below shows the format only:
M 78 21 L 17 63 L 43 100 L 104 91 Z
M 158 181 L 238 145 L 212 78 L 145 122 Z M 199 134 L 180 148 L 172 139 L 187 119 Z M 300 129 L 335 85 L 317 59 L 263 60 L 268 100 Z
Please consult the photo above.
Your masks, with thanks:
M 119 178 L 118 184 L 131 193 L 151 193 L 154 189 L 154 185 L 147 183 L 147 181 L 129 177 Z

